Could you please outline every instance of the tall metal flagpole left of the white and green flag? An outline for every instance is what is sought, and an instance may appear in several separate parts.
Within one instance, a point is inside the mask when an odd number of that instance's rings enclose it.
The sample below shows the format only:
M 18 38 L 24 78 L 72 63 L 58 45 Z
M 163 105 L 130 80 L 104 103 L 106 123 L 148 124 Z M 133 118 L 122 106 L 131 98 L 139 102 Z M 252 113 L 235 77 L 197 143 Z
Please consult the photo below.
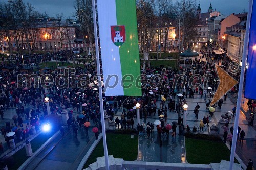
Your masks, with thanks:
M 96 7 L 95 0 L 93 1 L 93 25 L 94 25 L 94 40 L 95 40 L 95 51 L 96 51 L 96 61 L 97 61 L 97 74 L 98 81 L 101 81 L 101 72 L 100 72 L 100 62 L 99 62 L 99 45 L 98 45 L 98 32 L 97 32 L 97 21 L 96 21 Z M 108 145 L 106 144 L 106 130 L 105 130 L 105 118 L 104 118 L 104 107 L 103 107 L 103 98 L 102 98 L 102 86 L 99 82 L 99 103 L 100 103 L 100 117 L 101 117 L 101 126 L 102 126 L 102 138 L 103 138 L 103 147 L 105 155 L 105 164 L 106 170 L 109 170 L 109 157 L 108 157 Z

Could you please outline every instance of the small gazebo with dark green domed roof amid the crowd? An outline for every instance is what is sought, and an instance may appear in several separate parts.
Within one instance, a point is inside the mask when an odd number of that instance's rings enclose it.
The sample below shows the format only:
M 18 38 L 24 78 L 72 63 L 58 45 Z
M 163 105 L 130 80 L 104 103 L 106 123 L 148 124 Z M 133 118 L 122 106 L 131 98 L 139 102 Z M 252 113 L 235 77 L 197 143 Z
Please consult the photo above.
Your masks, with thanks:
M 199 54 L 188 48 L 180 53 L 180 67 L 189 68 L 193 65 L 193 61 L 199 59 Z

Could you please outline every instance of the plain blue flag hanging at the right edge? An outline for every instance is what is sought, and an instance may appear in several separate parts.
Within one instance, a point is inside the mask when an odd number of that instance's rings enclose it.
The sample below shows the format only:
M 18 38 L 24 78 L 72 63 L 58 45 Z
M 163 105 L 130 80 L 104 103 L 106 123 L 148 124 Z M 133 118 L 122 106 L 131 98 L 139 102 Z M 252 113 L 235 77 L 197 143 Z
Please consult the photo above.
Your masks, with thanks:
M 248 45 L 248 69 L 246 72 L 245 97 L 256 99 L 256 2 L 253 3 L 251 12 L 249 45 Z

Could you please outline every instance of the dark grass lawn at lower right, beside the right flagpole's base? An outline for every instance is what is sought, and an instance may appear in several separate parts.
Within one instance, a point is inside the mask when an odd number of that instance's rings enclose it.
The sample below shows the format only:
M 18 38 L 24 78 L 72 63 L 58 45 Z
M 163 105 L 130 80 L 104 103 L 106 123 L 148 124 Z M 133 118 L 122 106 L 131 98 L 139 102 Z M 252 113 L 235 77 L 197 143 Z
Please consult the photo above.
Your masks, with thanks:
M 230 159 L 230 151 L 222 141 L 185 138 L 188 163 L 210 164 Z M 239 163 L 237 159 L 235 163 Z

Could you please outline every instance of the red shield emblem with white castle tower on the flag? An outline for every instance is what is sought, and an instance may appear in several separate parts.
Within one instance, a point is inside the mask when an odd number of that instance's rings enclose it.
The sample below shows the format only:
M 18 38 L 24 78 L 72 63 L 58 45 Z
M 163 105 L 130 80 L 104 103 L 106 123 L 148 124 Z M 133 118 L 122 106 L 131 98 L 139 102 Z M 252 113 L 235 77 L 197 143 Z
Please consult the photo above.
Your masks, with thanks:
M 110 26 L 111 39 L 116 46 L 121 46 L 125 41 L 125 27 L 124 25 Z

